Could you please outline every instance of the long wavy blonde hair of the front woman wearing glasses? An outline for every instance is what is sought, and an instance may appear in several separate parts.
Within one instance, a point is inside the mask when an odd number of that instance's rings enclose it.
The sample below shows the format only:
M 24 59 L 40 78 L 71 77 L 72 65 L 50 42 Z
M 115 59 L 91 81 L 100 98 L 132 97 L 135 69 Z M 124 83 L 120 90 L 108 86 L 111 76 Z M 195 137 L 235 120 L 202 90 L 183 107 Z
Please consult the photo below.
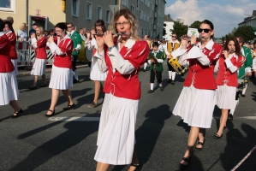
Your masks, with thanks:
M 133 14 L 133 12 L 130 9 L 120 9 L 116 11 L 116 13 L 113 15 L 111 22 L 110 22 L 110 31 L 117 32 L 116 29 L 116 21 L 119 19 L 120 16 L 124 16 L 131 24 L 131 37 L 138 40 L 139 37 L 139 24 L 136 19 L 136 16 Z

